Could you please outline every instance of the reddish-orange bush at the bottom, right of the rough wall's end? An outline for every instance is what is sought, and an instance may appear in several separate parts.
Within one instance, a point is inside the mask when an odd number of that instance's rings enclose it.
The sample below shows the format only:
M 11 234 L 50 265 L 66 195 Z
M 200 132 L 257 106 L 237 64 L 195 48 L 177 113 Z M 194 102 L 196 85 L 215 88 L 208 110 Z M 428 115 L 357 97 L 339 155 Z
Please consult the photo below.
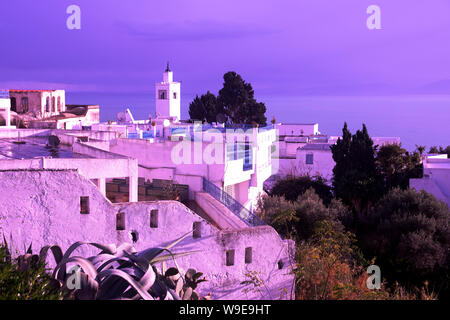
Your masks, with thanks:
M 374 261 L 362 258 L 354 234 L 335 221 L 317 222 L 312 238 L 298 244 L 296 260 L 296 297 L 300 300 L 436 299 L 427 285 L 408 291 L 398 283 L 391 289 L 383 282 L 379 290 L 368 289 L 365 266 Z

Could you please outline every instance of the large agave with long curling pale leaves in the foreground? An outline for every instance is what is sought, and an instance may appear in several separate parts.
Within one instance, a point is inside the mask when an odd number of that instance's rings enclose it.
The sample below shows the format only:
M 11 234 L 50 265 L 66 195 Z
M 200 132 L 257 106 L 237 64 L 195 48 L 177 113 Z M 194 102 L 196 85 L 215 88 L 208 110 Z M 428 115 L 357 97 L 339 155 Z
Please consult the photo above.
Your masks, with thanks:
M 176 262 L 177 257 L 198 251 L 172 253 L 170 250 L 190 233 L 164 248 L 150 248 L 140 252 L 137 252 L 129 243 L 116 247 L 76 242 L 64 254 L 59 246 L 46 246 L 41 249 L 39 255 L 33 255 L 30 246 L 27 253 L 19 257 L 19 268 L 26 269 L 31 263 L 45 261 L 50 250 L 57 264 L 52 272 L 52 278 L 57 280 L 60 288 L 67 293 L 67 298 L 82 300 L 204 299 L 195 292 L 197 285 L 206 281 L 204 278 L 200 279 L 203 274 L 193 269 L 188 269 L 184 273 Z M 98 248 L 100 253 L 89 258 L 72 256 L 72 253 L 83 245 Z M 176 268 L 167 269 L 168 260 L 173 260 Z M 162 264 L 161 273 L 156 268 L 156 263 Z M 68 270 L 69 265 L 75 266 L 77 270 L 73 267 Z

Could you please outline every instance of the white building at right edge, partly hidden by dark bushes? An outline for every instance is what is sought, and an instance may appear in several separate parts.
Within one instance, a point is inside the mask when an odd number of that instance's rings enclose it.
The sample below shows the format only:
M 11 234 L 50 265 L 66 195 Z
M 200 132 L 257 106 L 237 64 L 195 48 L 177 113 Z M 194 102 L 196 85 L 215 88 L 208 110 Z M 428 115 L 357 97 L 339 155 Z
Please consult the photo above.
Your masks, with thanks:
M 450 207 L 450 159 L 446 154 L 425 155 L 423 178 L 410 179 L 409 186 L 433 194 Z

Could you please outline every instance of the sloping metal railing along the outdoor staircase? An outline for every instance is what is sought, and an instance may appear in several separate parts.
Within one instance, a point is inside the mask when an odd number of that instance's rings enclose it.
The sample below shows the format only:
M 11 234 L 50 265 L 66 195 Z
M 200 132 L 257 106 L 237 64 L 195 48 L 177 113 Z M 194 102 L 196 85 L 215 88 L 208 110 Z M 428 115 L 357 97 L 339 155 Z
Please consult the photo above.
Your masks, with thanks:
M 231 195 L 223 191 L 211 181 L 203 178 L 203 190 L 209 193 L 214 199 L 222 203 L 231 212 L 233 212 L 238 218 L 244 221 L 250 227 L 265 226 L 267 225 L 259 217 L 251 213 L 247 208 L 240 204 Z

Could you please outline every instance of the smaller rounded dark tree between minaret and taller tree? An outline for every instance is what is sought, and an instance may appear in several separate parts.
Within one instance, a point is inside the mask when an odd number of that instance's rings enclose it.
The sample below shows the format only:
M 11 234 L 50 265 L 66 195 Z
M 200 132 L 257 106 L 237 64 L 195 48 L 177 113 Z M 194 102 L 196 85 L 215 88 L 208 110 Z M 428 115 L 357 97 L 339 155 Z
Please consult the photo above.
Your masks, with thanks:
M 220 110 L 218 107 L 216 96 L 208 91 L 206 94 L 201 95 L 201 97 L 197 95 L 194 98 L 189 105 L 189 116 L 194 121 L 216 122 L 217 114 L 223 113 L 223 110 Z

